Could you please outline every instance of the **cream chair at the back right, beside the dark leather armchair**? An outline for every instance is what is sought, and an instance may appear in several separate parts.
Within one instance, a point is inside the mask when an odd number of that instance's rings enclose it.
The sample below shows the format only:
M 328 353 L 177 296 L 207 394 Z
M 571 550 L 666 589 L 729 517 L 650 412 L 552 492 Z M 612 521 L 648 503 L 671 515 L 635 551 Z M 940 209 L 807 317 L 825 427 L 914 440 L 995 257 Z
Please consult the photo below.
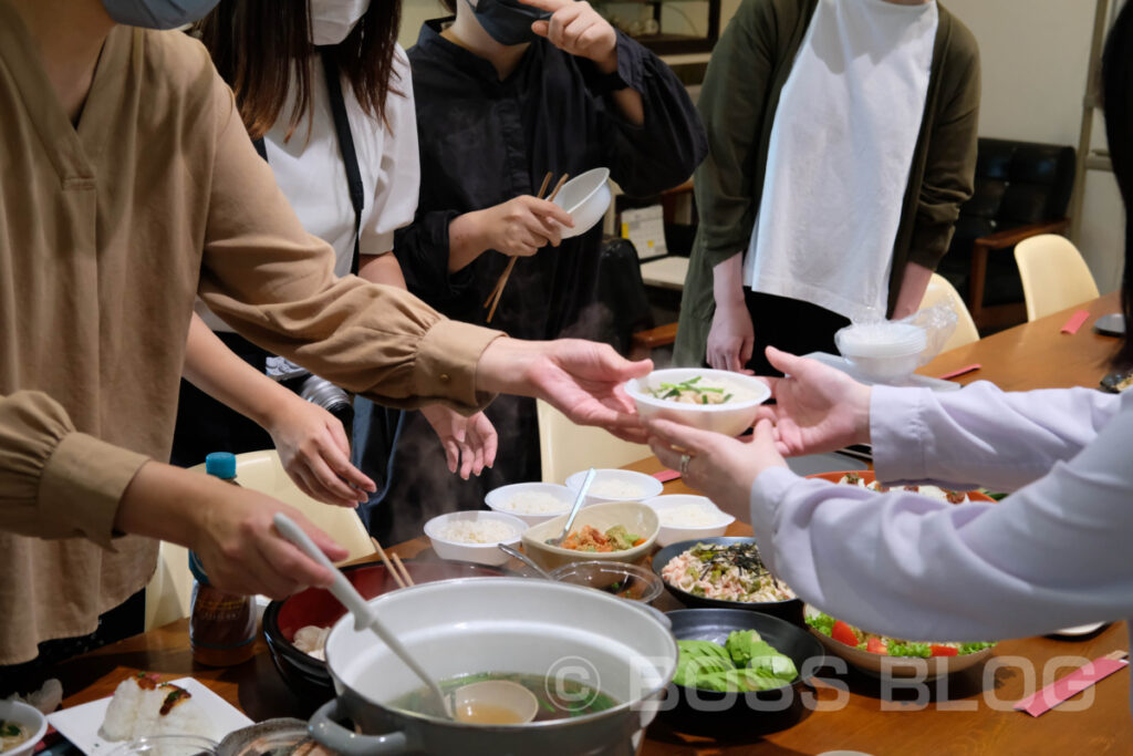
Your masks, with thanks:
M 1023 239 L 1015 246 L 1015 263 L 1028 321 L 1098 298 L 1090 267 L 1066 237 L 1043 233 Z

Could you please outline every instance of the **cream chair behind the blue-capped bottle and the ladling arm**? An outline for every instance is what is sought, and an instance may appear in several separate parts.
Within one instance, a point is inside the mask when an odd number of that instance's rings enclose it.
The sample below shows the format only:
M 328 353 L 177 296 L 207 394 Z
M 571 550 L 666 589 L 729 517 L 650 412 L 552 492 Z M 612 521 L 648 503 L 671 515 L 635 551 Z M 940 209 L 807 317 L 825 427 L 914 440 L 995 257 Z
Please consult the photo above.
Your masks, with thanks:
M 190 470 L 205 474 L 204 465 Z M 352 509 L 315 501 L 291 482 L 274 449 L 249 451 L 236 456 L 236 481 L 246 489 L 265 493 L 295 507 L 329 536 L 347 549 L 343 561 L 374 553 L 366 526 Z M 162 542 L 157 571 L 146 586 L 146 629 L 168 625 L 189 614 L 193 577 L 188 551 Z

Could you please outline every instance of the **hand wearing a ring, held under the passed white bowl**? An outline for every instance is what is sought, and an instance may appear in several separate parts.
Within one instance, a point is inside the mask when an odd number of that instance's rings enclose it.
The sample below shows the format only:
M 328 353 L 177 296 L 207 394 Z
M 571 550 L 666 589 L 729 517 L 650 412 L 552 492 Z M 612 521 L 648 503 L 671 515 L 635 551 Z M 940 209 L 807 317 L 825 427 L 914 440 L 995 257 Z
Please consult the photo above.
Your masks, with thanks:
M 649 448 L 665 466 L 680 470 L 685 483 L 744 523 L 751 517 L 748 503 L 759 474 L 768 467 L 786 467 L 775 450 L 770 421 L 759 421 L 755 434 L 743 440 L 672 421 L 650 418 L 642 423 L 649 433 Z

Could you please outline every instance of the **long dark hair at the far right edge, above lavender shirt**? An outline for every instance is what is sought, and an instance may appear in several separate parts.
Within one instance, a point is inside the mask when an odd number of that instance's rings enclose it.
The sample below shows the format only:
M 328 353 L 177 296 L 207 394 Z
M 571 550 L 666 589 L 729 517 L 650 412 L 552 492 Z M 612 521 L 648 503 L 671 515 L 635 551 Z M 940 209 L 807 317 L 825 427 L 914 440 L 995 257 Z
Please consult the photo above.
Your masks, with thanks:
M 1106 138 L 1114 176 L 1125 205 L 1125 272 L 1122 273 L 1122 312 L 1125 335 L 1114 355 L 1114 366 L 1133 367 L 1133 3 L 1126 2 L 1106 41 L 1101 57 L 1101 97 Z M 1079 159 L 1081 159 L 1080 156 Z

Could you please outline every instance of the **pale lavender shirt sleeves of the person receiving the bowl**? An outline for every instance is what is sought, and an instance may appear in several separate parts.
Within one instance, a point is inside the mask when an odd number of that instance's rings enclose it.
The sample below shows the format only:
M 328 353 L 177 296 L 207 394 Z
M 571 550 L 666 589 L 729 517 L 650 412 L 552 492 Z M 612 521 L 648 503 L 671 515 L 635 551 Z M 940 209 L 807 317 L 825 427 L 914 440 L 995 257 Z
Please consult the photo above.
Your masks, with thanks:
M 1020 637 L 1133 614 L 1133 397 L 926 394 L 875 396 L 879 472 L 1022 487 L 953 506 L 767 470 L 751 515 L 775 574 L 834 617 L 912 639 Z

